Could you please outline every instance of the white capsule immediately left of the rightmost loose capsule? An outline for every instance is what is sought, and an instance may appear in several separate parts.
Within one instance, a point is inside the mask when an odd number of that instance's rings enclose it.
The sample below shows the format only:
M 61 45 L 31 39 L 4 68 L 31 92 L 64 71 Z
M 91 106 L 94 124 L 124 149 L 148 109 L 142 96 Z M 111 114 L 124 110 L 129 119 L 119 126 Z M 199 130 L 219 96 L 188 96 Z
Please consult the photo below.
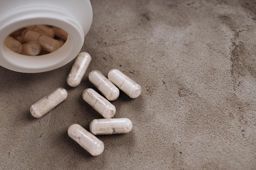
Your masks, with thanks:
M 119 89 L 101 72 L 94 70 L 89 74 L 90 82 L 110 101 L 119 96 Z

